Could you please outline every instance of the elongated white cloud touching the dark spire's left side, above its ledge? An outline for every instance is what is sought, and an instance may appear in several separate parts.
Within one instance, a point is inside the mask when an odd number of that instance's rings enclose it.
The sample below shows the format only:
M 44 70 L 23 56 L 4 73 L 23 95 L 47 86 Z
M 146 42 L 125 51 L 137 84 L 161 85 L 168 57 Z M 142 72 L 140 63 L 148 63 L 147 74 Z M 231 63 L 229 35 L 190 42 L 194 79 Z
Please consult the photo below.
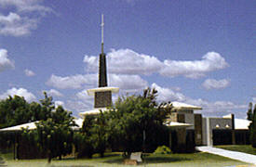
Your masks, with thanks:
M 57 87 L 59 89 L 79 89 L 85 84 L 94 85 L 97 83 L 97 74 L 86 74 L 86 75 L 71 75 L 66 77 L 61 77 L 52 74 L 47 85 Z

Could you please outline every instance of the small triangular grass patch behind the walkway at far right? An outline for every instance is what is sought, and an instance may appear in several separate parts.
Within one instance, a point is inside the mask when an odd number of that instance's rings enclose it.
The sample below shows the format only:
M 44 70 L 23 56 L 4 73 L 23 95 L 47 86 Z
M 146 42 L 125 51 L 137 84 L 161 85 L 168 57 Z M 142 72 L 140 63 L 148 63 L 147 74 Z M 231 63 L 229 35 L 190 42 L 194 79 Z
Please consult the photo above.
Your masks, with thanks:
M 245 152 L 248 154 L 256 155 L 256 148 L 252 148 L 250 145 L 225 145 L 225 146 L 215 146 L 215 148 L 222 148 L 222 149 Z

